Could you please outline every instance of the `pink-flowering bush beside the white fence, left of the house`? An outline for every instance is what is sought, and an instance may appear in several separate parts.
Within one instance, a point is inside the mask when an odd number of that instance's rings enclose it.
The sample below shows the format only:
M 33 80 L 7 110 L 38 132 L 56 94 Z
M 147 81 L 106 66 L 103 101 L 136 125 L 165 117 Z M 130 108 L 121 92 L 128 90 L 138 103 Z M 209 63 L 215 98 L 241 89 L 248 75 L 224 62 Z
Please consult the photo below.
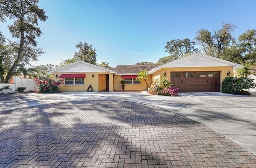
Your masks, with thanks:
M 34 79 L 37 83 L 35 93 L 57 93 L 60 92 L 59 85 L 62 80 L 54 81 L 52 79 Z

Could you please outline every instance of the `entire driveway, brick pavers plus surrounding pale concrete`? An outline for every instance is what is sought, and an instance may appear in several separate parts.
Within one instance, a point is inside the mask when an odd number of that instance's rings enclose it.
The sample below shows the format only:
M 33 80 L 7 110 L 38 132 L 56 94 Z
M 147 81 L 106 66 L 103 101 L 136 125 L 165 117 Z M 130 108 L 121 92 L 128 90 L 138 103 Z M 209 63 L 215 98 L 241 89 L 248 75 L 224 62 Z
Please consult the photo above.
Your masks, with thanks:
M 256 97 L 25 93 L 0 99 L 0 167 L 256 167 Z

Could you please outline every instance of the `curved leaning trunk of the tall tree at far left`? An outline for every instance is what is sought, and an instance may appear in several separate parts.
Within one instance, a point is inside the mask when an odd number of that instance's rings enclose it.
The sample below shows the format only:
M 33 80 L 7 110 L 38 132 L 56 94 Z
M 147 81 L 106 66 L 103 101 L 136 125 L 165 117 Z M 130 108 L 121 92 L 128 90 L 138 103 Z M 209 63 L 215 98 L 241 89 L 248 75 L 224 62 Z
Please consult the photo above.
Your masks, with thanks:
M 18 57 L 17 59 L 14 61 L 10 71 L 8 72 L 5 80 L 4 80 L 4 83 L 10 83 L 11 79 L 12 79 L 12 76 L 13 74 L 15 73 L 18 65 L 20 64 L 20 61 L 22 60 L 22 51 L 24 49 L 24 43 L 25 43 L 25 37 L 24 37 L 24 30 L 20 30 L 20 49 L 18 51 Z

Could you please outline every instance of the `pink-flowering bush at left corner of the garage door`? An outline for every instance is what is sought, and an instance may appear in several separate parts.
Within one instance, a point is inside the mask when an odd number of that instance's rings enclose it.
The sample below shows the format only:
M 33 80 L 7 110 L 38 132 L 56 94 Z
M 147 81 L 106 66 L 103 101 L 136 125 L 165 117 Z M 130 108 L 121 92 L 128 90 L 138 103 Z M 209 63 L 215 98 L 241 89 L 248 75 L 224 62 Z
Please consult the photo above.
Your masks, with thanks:
M 155 79 L 151 87 L 148 89 L 150 95 L 177 96 L 178 88 L 171 87 L 170 81 L 164 77 Z

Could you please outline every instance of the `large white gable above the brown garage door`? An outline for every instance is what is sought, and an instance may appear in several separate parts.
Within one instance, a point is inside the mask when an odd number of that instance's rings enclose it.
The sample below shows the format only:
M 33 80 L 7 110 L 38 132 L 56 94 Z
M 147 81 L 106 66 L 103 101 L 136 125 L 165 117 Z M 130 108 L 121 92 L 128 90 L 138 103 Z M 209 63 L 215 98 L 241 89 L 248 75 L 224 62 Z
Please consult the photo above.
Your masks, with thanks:
M 212 57 L 203 53 L 194 53 L 186 57 L 176 59 L 175 61 L 160 65 L 151 69 L 148 74 L 155 73 L 161 68 L 170 67 L 229 67 L 232 66 L 234 69 L 242 68 L 243 65 L 226 61 L 220 58 Z

